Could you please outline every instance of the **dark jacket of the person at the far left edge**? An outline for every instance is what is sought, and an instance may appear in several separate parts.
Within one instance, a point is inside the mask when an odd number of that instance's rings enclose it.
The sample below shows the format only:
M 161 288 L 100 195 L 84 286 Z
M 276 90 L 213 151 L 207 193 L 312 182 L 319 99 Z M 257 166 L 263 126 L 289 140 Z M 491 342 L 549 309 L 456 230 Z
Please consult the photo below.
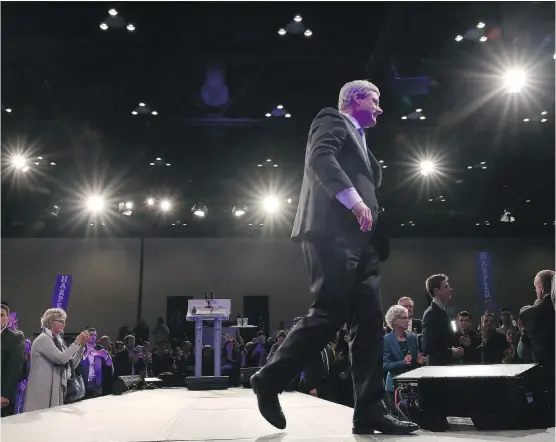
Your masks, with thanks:
M 15 401 L 25 361 L 25 337 L 19 331 L 5 328 L 2 332 L 2 397 Z

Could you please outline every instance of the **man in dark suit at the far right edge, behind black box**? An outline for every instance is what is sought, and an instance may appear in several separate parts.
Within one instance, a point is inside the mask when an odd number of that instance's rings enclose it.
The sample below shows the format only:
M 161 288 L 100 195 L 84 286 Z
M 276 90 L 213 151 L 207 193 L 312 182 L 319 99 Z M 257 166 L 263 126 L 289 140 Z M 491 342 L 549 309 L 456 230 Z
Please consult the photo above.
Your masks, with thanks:
M 520 319 L 529 338 L 535 361 L 542 365 L 544 382 L 547 387 L 547 418 L 554 425 L 554 389 L 555 389 L 555 312 L 551 298 L 551 285 L 554 284 L 554 272 L 542 270 L 534 279 L 537 300 L 535 305 L 524 309 Z

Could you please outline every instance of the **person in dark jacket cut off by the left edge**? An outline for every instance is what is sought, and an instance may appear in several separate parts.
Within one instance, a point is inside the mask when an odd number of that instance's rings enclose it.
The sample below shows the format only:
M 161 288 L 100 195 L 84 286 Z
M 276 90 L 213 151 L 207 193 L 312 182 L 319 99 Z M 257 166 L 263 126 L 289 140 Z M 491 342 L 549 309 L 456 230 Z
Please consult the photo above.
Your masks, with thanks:
M 0 305 L 2 325 L 2 417 L 14 413 L 17 384 L 21 380 L 25 361 L 25 337 L 19 331 L 8 329 L 10 309 Z

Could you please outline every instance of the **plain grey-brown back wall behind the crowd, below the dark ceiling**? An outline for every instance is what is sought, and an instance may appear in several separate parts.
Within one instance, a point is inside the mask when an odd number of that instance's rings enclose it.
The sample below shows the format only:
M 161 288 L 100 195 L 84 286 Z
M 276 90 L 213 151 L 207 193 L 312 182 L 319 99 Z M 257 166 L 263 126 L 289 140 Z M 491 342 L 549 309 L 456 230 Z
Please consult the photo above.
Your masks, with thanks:
M 385 309 L 401 296 L 426 308 L 424 281 L 446 273 L 454 288 L 451 313 L 482 310 L 476 252 L 490 251 L 493 292 L 499 306 L 517 311 L 534 301 L 533 277 L 554 269 L 554 239 L 395 239 L 382 267 Z M 2 299 L 31 335 L 50 306 L 57 274 L 73 275 L 68 331 L 86 324 L 114 336 L 137 317 L 139 239 L 2 239 Z M 271 330 L 307 311 L 311 299 L 300 247 L 287 240 L 146 239 L 142 316 L 152 328 L 167 312 L 168 296 L 232 300 L 232 318 L 243 297 L 268 296 Z

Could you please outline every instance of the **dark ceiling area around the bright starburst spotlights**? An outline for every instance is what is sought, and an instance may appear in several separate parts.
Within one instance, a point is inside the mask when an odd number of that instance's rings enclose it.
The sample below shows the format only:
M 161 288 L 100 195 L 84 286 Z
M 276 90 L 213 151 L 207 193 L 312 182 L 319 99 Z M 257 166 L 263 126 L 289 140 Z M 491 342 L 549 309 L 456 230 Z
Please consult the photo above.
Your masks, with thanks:
M 135 30 L 100 29 L 110 8 Z M 394 236 L 552 236 L 554 12 L 553 2 L 2 3 L 2 234 L 285 235 L 311 119 L 344 83 L 368 78 L 381 89 L 368 144 L 386 166 Z M 296 14 L 310 38 L 278 35 Z M 477 32 L 488 40 L 455 41 Z M 212 66 L 225 73 L 223 105 L 202 98 Z M 527 87 L 506 94 L 514 67 Z M 132 115 L 139 102 L 158 115 Z M 265 117 L 278 104 L 291 118 Z M 417 108 L 425 120 L 401 119 Z M 10 169 L 14 152 L 27 173 Z M 423 177 L 428 159 L 438 171 Z M 81 213 L 91 192 L 114 204 L 102 222 Z M 285 206 L 272 218 L 255 210 L 268 193 Z M 147 196 L 173 210 L 147 210 Z M 130 217 L 112 210 L 127 200 Z M 243 204 L 252 210 L 236 219 Z

